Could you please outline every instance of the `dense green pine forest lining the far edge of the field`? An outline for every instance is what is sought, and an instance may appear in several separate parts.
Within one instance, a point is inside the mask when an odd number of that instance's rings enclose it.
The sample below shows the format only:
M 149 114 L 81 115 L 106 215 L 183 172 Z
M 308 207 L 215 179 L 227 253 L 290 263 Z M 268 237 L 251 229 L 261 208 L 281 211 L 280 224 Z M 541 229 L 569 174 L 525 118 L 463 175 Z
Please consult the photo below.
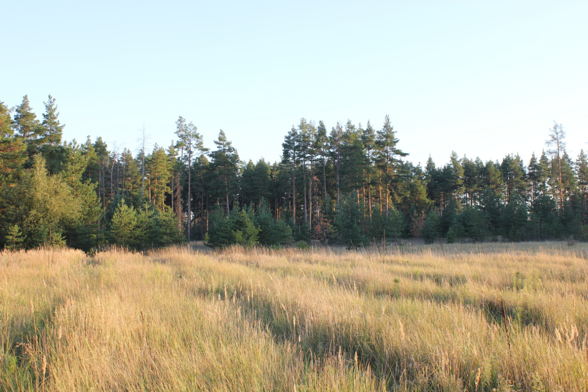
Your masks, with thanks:
M 588 239 L 588 157 L 567 154 L 556 122 L 529 162 L 453 152 L 425 167 L 407 160 L 389 116 L 330 130 L 300 119 L 273 163 L 242 162 L 222 130 L 206 149 L 182 117 L 172 145 L 147 150 L 143 138 L 136 154 L 100 137 L 65 142 L 63 129 L 51 95 L 42 116 L 26 95 L 0 102 L 0 247 Z

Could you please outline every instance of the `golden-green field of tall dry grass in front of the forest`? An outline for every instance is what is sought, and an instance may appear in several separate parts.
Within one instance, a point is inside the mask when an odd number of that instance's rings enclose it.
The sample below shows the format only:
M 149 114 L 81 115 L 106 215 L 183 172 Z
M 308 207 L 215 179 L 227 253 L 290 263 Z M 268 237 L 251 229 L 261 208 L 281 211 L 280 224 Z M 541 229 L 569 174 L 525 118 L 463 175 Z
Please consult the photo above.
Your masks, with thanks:
M 588 246 L 0 253 L 0 390 L 586 391 Z

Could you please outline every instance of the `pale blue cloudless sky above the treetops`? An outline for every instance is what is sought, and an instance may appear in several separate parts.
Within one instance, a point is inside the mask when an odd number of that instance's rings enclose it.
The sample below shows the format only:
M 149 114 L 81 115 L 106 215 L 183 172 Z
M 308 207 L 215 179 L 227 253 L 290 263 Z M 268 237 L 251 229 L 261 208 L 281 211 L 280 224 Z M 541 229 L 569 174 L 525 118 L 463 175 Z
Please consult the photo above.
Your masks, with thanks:
M 5 1 L 0 100 L 51 94 L 64 139 L 169 146 L 178 116 L 213 148 L 280 159 L 300 118 L 380 128 L 412 162 L 588 149 L 588 2 Z

